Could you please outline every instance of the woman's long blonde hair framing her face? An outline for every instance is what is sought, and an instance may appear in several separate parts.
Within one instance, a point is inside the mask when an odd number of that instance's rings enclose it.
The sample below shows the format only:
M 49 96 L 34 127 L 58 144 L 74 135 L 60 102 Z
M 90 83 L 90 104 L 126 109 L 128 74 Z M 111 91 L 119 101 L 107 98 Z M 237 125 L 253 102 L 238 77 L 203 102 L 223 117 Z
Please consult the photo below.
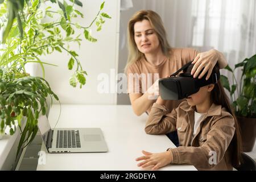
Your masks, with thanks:
M 143 53 L 138 50 L 134 40 L 134 24 L 136 22 L 142 22 L 142 20 L 144 19 L 148 20 L 152 28 L 155 30 L 156 35 L 158 36 L 159 44 L 161 46 L 163 54 L 167 57 L 170 57 L 171 47 L 167 41 L 166 30 L 163 26 L 163 21 L 160 18 L 160 16 L 151 10 L 138 11 L 131 17 L 128 23 L 127 42 L 128 42 L 129 53 L 128 53 L 127 64 L 125 66 L 125 73 L 127 72 L 127 68 L 129 68 L 131 64 L 142 59 L 143 57 Z

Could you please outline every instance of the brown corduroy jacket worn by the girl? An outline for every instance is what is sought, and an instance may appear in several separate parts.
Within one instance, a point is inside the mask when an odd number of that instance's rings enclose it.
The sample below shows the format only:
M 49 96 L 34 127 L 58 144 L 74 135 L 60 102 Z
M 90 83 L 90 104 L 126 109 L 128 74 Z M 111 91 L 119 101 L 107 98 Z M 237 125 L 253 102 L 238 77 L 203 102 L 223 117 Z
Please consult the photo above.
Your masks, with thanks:
M 146 122 L 147 134 L 177 130 L 180 146 L 170 148 L 171 164 L 192 164 L 199 170 L 232 170 L 230 142 L 235 133 L 234 118 L 224 107 L 212 104 L 192 138 L 195 106 L 181 102 L 171 112 L 154 104 Z M 192 144 L 191 144 L 192 142 Z

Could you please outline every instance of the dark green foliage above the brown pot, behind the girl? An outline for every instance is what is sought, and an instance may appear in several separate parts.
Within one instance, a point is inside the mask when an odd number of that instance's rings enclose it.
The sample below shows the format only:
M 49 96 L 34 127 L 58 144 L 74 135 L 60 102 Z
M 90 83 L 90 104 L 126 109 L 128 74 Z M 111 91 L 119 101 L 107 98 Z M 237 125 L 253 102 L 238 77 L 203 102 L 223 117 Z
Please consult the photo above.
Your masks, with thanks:
M 242 75 L 238 84 L 234 71 L 241 68 Z M 226 76 L 221 76 L 221 83 L 230 93 L 232 105 L 238 117 L 256 118 L 256 55 L 246 58 L 235 65 L 234 69 L 229 66 L 226 69 L 232 72 L 233 84 L 230 86 Z

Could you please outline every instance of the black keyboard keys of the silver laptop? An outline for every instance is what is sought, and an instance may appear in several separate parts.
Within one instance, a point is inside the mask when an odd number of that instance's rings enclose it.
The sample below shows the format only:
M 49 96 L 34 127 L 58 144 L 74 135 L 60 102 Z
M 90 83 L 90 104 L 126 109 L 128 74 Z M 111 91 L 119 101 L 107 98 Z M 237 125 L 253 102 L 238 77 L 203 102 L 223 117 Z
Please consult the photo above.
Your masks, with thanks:
M 57 130 L 56 148 L 81 148 L 79 130 Z

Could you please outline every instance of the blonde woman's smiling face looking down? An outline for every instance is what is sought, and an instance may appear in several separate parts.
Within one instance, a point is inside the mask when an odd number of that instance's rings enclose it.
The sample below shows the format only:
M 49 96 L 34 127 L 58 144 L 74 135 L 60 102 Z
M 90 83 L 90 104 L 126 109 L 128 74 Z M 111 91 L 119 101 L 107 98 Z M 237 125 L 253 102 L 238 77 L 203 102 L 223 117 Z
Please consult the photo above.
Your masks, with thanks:
M 142 53 L 152 53 L 160 48 L 158 36 L 146 19 L 134 24 L 134 40 Z

